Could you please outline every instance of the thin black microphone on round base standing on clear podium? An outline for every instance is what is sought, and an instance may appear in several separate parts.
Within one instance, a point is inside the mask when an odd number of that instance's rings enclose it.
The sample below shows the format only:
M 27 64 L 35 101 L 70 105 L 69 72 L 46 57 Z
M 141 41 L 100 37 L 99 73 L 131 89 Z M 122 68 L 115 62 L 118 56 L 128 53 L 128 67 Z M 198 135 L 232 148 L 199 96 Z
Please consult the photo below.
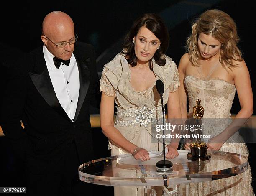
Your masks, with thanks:
M 161 98 L 161 104 L 162 104 L 162 112 L 163 112 L 163 125 L 165 123 L 164 119 L 165 119 L 165 115 L 164 115 L 164 103 L 163 103 L 163 93 L 164 93 L 164 83 L 163 81 L 156 80 L 156 90 L 158 91 L 158 93 L 160 94 L 160 98 Z M 165 128 L 163 130 L 163 135 L 164 135 L 164 131 Z M 158 171 L 168 171 L 171 169 L 172 167 L 172 162 L 169 160 L 165 160 L 165 143 L 164 143 L 164 137 L 163 137 L 163 153 L 164 153 L 164 160 L 159 160 L 156 163 L 156 169 Z M 166 186 L 166 183 L 164 183 Z

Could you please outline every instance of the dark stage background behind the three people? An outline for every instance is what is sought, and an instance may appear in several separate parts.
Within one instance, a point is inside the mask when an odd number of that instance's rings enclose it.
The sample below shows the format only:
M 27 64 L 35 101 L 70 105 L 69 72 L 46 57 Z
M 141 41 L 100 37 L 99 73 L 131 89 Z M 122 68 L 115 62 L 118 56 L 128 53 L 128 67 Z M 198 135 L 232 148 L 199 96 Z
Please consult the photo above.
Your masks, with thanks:
M 8 78 L 8 67 L 16 66 L 15 61 L 42 45 L 41 23 L 44 16 L 54 10 L 69 14 L 75 23 L 75 31 L 79 41 L 91 43 L 97 54 L 97 70 L 99 76 L 102 67 L 120 52 L 125 33 L 133 21 L 143 13 L 157 13 L 169 28 L 170 44 L 167 55 L 179 63 L 180 57 L 186 52 L 186 38 L 191 32 L 191 22 L 200 13 L 208 9 L 220 9 L 228 13 L 236 22 L 241 38 L 238 46 L 243 53 L 251 74 L 253 92 L 255 89 L 255 3 L 253 1 L 236 0 L 166 0 L 166 1 L 20 1 L 6 2 L 2 6 L 1 40 L 0 40 L 0 87 L 2 92 Z M 22 89 L 21 89 L 22 90 Z M 1 97 L 1 96 L 0 96 Z M 254 98 L 255 100 L 255 98 Z M 231 113 L 240 109 L 237 94 Z M 255 110 L 254 110 L 255 111 Z M 99 113 L 92 109 L 92 113 Z M 253 113 L 256 114 L 255 112 Z M 42 120 L 43 122 L 43 120 Z M 100 128 L 94 128 L 95 158 L 109 155 L 107 139 Z M 248 144 L 249 162 L 253 174 L 253 186 L 256 184 L 256 153 L 254 144 Z M 22 164 L 13 159 L 5 137 L 0 137 L 0 187 L 26 186 L 22 177 Z M 113 193 L 111 187 L 99 186 Z M 256 190 L 254 188 L 254 190 Z

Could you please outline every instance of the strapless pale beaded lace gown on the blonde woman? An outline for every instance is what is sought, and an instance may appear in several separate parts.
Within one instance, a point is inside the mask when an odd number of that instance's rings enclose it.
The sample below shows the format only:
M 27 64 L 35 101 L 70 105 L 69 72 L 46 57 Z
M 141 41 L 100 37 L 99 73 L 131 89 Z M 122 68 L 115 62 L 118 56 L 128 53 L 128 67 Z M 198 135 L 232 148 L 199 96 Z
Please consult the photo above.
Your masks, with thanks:
M 196 99 L 201 99 L 201 105 L 205 108 L 203 118 L 223 119 L 223 123 L 218 126 L 208 125 L 209 135 L 215 136 L 222 132 L 231 122 L 230 109 L 236 93 L 236 87 L 222 79 L 203 80 L 195 76 L 186 76 L 184 84 L 188 93 L 189 115 L 193 113 Z M 204 120 L 204 119 L 202 119 Z M 220 120 L 221 122 L 221 120 Z M 233 137 L 239 140 L 238 132 Z M 240 138 L 240 141 L 242 138 Z M 220 151 L 238 153 L 248 156 L 248 148 L 245 143 L 224 143 Z M 216 165 L 217 166 L 217 165 Z M 204 183 L 191 183 L 189 192 L 192 196 L 205 195 L 228 195 L 228 196 L 251 196 L 254 195 L 251 186 L 251 168 L 240 175 L 230 178 L 209 181 Z

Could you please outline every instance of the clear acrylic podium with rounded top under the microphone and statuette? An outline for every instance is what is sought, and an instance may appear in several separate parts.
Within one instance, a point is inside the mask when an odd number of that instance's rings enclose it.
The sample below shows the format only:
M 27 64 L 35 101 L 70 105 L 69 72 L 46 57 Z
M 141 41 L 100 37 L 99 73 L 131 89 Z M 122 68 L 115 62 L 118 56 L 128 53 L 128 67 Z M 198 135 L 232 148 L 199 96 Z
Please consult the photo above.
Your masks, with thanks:
M 163 157 L 148 161 L 135 160 L 131 154 L 92 160 L 79 166 L 79 179 L 87 183 L 106 186 L 142 186 L 147 196 L 156 195 L 161 187 L 164 195 L 187 195 L 189 183 L 213 181 L 236 176 L 247 170 L 248 157 L 221 151 L 208 151 L 210 160 L 187 159 L 190 150 L 178 150 L 179 156 L 170 160 L 172 171 L 156 171 L 156 162 Z M 168 187 L 164 186 L 168 180 Z M 157 194 L 159 195 L 159 194 Z

